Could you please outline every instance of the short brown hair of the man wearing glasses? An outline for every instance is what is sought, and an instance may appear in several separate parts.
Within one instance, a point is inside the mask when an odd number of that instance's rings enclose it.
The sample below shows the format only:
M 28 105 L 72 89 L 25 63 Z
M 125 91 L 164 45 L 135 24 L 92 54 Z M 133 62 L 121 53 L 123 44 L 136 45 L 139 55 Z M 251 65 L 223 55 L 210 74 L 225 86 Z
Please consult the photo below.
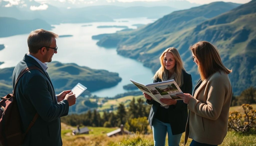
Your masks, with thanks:
M 42 47 L 49 47 L 51 45 L 52 38 L 58 38 L 59 36 L 53 32 L 37 29 L 31 31 L 28 35 L 28 51 L 29 53 L 36 54 Z M 46 48 L 49 50 L 49 48 Z

